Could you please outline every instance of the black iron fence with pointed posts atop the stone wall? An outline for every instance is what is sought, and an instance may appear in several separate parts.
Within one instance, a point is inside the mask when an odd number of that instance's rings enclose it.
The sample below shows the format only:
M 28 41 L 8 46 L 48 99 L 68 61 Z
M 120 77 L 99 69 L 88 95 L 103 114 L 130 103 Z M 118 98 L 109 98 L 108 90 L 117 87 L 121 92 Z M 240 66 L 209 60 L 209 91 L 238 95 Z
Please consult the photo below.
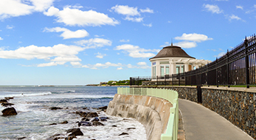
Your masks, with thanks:
M 243 43 L 227 51 L 224 56 L 217 58 L 204 67 L 191 70 L 187 73 L 156 76 L 153 82 L 157 85 L 250 85 L 256 84 L 256 37 L 246 37 Z M 142 81 L 151 81 L 151 77 L 131 77 L 131 85 L 142 84 Z

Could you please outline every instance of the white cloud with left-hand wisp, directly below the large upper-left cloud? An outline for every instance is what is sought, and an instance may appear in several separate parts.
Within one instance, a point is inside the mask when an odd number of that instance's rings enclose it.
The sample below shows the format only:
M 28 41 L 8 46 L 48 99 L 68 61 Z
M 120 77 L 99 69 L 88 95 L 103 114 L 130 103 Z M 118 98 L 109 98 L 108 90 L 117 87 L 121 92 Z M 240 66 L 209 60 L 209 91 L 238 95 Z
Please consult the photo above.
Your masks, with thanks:
M 69 29 L 66 28 L 60 28 L 60 27 L 55 27 L 55 28 L 45 28 L 44 32 L 63 32 L 60 34 L 60 37 L 63 37 L 64 40 L 70 39 L 70 38 L 83 38 L 89 36 L 89 33 L 86 32 L 84 29 L 79 29 L 75 32 L 70 31 Z

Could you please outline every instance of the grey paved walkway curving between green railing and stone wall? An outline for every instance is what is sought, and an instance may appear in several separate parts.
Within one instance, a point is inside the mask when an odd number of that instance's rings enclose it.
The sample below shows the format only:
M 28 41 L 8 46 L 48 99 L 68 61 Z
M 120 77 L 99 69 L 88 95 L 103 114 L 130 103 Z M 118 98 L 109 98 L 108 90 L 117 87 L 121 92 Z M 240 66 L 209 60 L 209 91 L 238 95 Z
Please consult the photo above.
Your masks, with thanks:
M 179 99 L 179 109 L 186 140 L 252 140 L 243 130 L 198 103 Z

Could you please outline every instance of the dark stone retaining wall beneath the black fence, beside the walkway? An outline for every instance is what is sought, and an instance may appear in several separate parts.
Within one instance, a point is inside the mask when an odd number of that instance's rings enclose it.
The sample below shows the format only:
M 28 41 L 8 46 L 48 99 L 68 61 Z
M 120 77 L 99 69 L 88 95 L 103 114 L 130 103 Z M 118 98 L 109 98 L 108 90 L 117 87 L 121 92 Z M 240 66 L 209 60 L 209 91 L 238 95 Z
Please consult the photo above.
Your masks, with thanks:
M 173 89 L 179 98 L 197 103 L 196 86 L 160 86 Z M 256 139 L 256 89 L 201 87 L 202 105 L 215 111 Z

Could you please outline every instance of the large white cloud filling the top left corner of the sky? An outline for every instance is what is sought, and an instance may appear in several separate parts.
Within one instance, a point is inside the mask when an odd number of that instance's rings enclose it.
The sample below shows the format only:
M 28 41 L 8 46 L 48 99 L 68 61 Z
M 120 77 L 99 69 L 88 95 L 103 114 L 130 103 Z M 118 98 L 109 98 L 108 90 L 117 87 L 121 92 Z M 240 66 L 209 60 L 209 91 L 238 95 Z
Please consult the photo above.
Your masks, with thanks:
M 48 9 L 54 0 L 1 0 L 0 20 L 21 15 L 29 15 L 32 12 L 43 12 Z

